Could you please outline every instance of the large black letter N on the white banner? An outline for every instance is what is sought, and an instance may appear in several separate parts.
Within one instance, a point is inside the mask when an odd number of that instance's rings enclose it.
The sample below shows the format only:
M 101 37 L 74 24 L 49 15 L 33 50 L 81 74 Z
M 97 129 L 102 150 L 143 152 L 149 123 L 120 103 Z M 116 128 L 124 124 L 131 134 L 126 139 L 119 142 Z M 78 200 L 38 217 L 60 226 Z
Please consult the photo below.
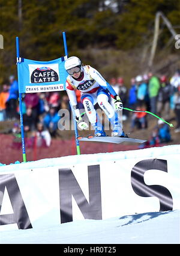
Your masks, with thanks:
M 85 219 L 102 219 L 100 166 L 88 166 L 89 203 L 69 168 L 59 169 L 61 223 L 73 221 L 72 195 Z

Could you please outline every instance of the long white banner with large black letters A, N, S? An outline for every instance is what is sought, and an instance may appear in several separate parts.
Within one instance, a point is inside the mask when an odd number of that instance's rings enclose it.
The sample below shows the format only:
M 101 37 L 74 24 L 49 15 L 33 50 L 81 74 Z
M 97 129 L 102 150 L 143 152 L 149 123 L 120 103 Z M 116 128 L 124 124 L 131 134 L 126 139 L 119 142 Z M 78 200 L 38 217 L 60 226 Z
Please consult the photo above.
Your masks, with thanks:
M 179 155 L 0 172 L 0 231 L 180 208 Z

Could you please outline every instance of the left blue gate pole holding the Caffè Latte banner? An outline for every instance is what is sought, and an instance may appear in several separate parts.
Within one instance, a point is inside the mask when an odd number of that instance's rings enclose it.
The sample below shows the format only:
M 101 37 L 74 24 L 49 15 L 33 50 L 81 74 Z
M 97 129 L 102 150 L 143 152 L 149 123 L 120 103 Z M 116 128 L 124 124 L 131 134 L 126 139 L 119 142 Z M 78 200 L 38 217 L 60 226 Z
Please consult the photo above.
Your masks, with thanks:
M 17 55 L 17 78 L 19 77 L 19 68 L 18 59 L 19 59 L 19 37 L 16 37 L 16 55 Z M 17 79 L 18 81 L 18 79 Z M 19 83 L 19 81 L 18 81 Z M 22 139 L 22 153 L 23 153 L 23 162 L 26 162 L 26 149 L 25 149 L 25 135 L 24 135 L 24 126 L 23 126 L 23 114 L 22 114 L 22 93 L 19 93 L 19 114 L 20 114 L 20 130 L 21 130 L 21 139 Z

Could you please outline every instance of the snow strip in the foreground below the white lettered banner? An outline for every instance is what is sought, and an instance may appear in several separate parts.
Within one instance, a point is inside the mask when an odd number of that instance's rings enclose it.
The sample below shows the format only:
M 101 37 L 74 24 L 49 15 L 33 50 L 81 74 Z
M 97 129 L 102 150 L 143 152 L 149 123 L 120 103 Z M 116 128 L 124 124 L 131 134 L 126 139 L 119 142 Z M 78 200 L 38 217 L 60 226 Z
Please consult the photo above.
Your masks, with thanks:
M 75 220 L 43 229 L 4 231 L 1 244 L 179 244 L 180 211 Z

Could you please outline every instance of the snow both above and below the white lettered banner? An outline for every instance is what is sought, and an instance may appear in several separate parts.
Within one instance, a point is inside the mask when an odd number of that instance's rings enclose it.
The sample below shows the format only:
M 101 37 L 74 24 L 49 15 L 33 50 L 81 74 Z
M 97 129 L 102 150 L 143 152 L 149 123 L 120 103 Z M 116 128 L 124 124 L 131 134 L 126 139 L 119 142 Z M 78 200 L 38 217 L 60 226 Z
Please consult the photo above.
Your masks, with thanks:
M 139 149 L 104 154 L 94 154 L 93 161 L 120 160 L 139 157 L 159 157 L 180 154 L 180 145 Z M 90 155 L 70 155 L 61 158 L 42 159 L 27 163 L 2 165 L 0 173 L 20 169 L 63 166 L 67 163 L 92 163 Z M 1 164 L 0 164 L 1 165 Z M 149 212 L 118 216 L 106 220 L 74 220 L 49 228 L 32 228 L 3 231 L 0 244 L 179 244 L 180 210 Z

